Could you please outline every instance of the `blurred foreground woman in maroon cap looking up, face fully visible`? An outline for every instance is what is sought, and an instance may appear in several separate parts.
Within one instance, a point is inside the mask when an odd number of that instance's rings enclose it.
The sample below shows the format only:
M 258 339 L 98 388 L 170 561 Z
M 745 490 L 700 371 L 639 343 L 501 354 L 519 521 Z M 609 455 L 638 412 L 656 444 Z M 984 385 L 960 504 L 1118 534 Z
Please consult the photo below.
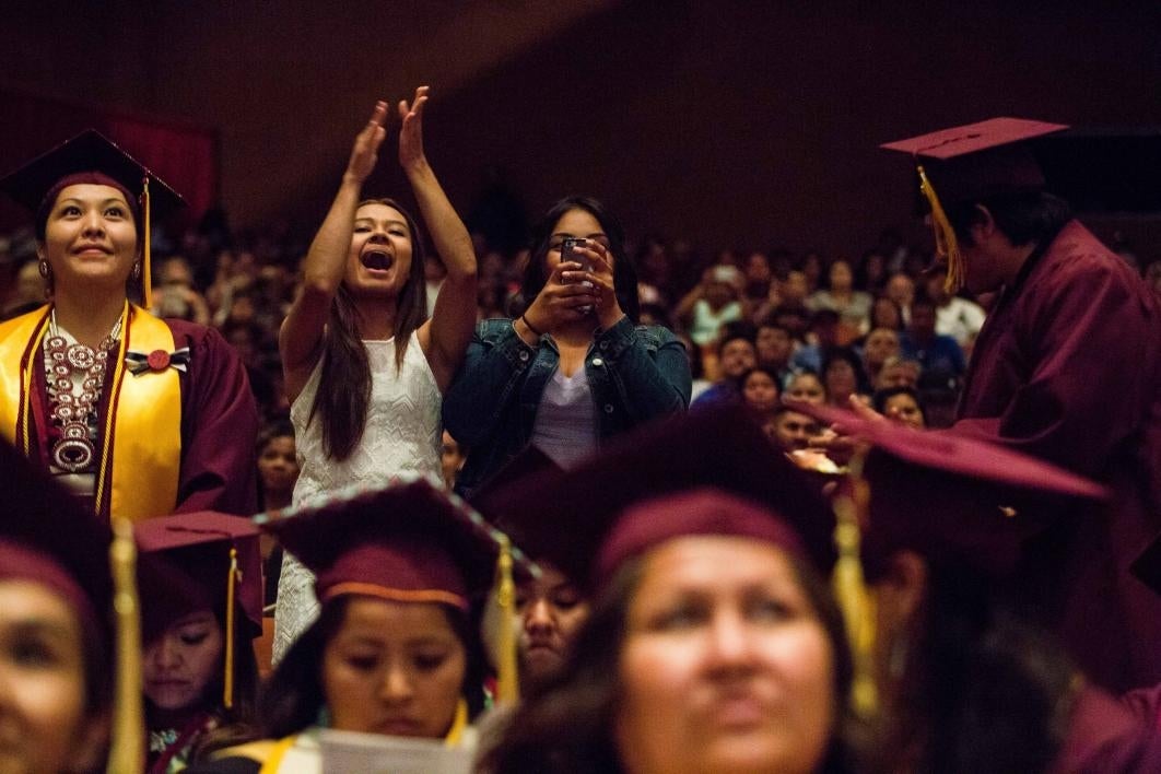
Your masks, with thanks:
M 628 435 L 489 502 L 593 602 L 483 771 L 849 771 L 832 519 L 743 412 Z

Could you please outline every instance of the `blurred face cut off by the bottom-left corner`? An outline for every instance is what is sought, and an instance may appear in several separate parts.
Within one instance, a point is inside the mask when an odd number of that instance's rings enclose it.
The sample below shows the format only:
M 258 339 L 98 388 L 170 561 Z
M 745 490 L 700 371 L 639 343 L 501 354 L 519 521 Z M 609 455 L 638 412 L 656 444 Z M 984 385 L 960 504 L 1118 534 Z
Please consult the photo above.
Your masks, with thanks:
M 86 715 L 85 649 L 71 606 L 31 580 L 0 581 L 0 771 L 98 765 L 107 718 Z

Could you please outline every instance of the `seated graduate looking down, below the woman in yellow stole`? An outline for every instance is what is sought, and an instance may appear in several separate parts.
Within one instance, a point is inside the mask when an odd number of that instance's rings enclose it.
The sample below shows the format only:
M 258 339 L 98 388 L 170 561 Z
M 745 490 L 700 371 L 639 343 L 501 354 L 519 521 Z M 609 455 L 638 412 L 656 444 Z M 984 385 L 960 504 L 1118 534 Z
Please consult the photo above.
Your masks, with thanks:
M 212 512 L 135 529 L 151 774 L 179 772 L 207 748 L 253 732 L 252 639 L 262 630 L 258 535 L 250 519 Z

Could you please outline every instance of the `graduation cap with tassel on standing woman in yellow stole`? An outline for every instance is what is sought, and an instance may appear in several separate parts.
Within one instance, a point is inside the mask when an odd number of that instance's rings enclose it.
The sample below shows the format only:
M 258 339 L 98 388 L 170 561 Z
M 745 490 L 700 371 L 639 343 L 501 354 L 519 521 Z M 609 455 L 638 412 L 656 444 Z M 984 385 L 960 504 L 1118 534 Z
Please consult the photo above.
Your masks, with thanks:
M 185 200 L 147 167 L 94 129 L 88 129 L 0 179 L 0 190 L 36 216 L 36 233 L 57 195 L 67 186 L 96 183 L 117 188 L 134 210 L 143 240 L 143 298 L 150 306 L 150 223 L 153 211 L 165 216 Z

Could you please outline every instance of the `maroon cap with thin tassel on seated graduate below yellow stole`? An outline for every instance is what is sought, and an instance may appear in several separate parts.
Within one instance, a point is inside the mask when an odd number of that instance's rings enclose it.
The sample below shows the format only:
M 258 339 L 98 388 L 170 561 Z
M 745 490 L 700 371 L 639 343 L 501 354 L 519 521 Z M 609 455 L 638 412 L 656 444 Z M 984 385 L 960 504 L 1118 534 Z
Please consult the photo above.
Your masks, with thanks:
M 223 614 L 223 703 L 233 704 L 237 610 L 253 638 L 262 634 L 262 552 L 251 519 L 210 511 L 147 519 L 134 528 L 140 552 L 143 641 L 152 642 L 199 610 Z M 152 562 L 150 562 L 152 559 Z

